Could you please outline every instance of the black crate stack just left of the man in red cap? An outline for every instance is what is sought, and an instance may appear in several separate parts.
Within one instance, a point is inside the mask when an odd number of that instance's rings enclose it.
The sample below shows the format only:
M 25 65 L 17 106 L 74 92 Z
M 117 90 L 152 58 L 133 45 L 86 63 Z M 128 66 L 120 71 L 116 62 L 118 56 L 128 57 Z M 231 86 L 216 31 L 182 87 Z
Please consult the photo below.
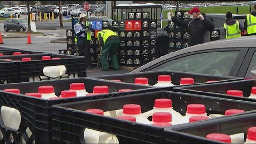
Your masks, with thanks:
M 179 19 L 188 20 L 190 15 L 186 11 L 176 11 L 175 16 Z M 174 52 L 189 46 L 188 28 L 182 28 L 174 24 L 172 21 L 168 23 L 169 49 L 168 52 Z

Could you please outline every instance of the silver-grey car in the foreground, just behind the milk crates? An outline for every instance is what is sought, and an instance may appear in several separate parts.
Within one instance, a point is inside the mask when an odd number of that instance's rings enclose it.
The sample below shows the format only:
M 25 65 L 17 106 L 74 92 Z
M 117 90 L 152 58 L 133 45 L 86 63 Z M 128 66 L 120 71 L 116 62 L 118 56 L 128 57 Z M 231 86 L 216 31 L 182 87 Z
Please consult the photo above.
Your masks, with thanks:
M 187 47 L 156 60 L 134 72 L 172 70 L 220 76 L 251 77 L 256 66 L 256 36 L 221 39 Z

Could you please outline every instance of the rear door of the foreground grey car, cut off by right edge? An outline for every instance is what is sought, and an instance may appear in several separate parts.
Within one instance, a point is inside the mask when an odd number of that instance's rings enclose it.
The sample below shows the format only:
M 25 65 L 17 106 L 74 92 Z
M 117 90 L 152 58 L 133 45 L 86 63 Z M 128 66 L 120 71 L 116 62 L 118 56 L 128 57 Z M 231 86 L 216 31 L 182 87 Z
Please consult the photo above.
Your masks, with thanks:
M 256 43 L 255 43 L 256 45 Z M 237 74 L 238 77 L 251 77 L 251 70 L 256 66 L 256 47 L 250 47 Z

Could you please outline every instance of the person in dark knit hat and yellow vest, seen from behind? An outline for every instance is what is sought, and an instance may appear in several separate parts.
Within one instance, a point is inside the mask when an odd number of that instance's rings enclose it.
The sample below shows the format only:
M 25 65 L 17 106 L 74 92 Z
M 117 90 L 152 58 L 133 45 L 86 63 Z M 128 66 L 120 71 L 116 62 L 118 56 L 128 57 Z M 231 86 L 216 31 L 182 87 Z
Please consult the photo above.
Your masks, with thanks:
M 226 23 L 224 23 L 224 31 L 226 38 L 241 37 L 241 32 L 244 32 L 244 27 L 236 20 L 234 20 L 232 13 L 227 12 Z

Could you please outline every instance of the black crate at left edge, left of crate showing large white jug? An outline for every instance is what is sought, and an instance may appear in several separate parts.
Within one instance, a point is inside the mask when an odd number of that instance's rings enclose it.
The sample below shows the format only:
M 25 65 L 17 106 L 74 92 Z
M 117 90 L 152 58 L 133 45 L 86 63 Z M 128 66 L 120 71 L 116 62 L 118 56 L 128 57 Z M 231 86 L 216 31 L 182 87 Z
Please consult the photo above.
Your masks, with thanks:
M 18 63 L 0 60 L 0 84 L 18 82 Z

